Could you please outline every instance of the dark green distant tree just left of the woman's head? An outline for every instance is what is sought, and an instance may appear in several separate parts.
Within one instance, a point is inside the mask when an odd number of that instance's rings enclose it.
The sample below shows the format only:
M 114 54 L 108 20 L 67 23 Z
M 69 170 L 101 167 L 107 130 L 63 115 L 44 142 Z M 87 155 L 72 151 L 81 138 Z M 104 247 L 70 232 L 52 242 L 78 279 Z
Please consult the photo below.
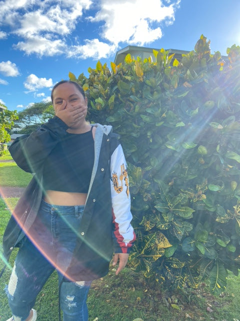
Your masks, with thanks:
M 51 102 L 39 102 L 18 112 L 17 115 L 18 119 L 14 122 L 12 132 L 29 134 L 48 118 L 53 117 L 54 110 Z

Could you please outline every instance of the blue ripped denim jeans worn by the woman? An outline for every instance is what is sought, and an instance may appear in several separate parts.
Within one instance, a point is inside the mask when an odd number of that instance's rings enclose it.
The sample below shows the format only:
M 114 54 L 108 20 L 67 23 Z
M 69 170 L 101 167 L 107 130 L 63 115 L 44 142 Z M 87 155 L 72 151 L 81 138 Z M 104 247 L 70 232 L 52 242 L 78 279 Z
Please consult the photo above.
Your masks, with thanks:
M 6 288 L 14 321 L 24 321 L 36 296 L 56 269 L 64 321 L 87 321 L 91 282 L 63 279 L 75 247 L 84 206 L 55 206 L 41 202 L 37 219 L 17 253 Z

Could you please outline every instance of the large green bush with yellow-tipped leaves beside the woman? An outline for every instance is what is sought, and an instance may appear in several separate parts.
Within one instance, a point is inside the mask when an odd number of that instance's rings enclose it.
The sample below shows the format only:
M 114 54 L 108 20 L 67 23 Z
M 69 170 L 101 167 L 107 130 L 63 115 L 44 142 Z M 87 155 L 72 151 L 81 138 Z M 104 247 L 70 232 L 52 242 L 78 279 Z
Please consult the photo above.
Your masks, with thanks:
M 238 274 L 240 240 L 240 48 L 227 59 L 204 36 L 179 62 L 130 55 L 78 79 L 89 119 L 121 135 L 137 235 L 130 266 L 158 282 L 213 292 Z

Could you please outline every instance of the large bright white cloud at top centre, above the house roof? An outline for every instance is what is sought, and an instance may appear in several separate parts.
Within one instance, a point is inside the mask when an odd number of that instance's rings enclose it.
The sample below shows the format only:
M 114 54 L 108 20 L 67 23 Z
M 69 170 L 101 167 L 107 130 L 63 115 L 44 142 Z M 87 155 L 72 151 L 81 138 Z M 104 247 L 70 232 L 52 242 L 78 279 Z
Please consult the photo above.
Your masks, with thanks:
M 178 1 L 164 6 L 161 0 L 102 0 L 92 22 L 104 22 L 102 37 L 115 45 L 120 42 L 144 45 L 161 38 L 159 27 L 164 20 L 174 20 Z M 157 27 L 153 27 L 156 24 Z

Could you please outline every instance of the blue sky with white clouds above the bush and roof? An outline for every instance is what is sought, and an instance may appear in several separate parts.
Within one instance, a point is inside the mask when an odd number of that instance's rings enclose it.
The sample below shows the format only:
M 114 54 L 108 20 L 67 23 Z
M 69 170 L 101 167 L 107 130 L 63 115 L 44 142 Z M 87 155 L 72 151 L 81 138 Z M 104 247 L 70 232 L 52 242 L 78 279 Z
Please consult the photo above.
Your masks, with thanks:
M 212 53 L 240 45 L 240 0 L 2 0 L 0 12 L 0 103 L 17 111 L 128 45 L 190 51 L 201 34 Z

